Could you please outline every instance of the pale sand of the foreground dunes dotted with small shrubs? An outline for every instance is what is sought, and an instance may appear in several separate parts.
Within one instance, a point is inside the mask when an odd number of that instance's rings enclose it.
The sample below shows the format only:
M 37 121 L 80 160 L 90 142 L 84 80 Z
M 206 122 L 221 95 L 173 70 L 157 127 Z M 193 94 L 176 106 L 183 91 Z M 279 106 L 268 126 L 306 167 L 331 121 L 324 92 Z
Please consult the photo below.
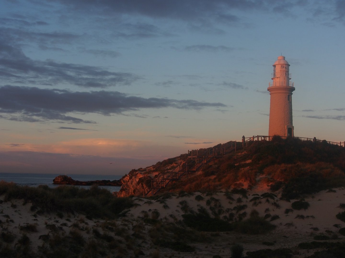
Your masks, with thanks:
M 260 189 L 259 187 L 249 191 L 248 198 L 232 194 L 233 200 L 230 200 L 223 192 L 193 193 L 184 196 L 161 197 L 158 200 L 132 197 L 135 206 L 125 211 L 123 217 L 113 221 L 90 220 L 81 214 L 38 215 L 30 210 L 30 203 L 23 205 L 23 200 L 4 202 L 3 196 L 0 196 L 2 201 L 0 206 L 1 232 L 16 236 L 16 240 L 8 243 L 12 246 L 17 243 L 16 241 L 21 235 L 29 236 L 33 252 L 38 252 L 42 246 L 48 246 L 45 236 L 51 237 L 56 234 L 71 236 L 77 232 L 86 243 L 90 243 L 92 239 L 96 238 L 95 232 L 99 232 L 100 235 L 110 235 L 112 237 L 110 239 L 117 241 L 117 249 L 112 251 L 114 257 L 116 255 L 118 257 L 213 257 L 214 255 L 230 257 L 230 247 L 235 244 L 243 245 L 244 254 L 247 251 L 259 249 L 291 248 L 294 252 L 293 257 L 306 257 L 312 255 L 315 250 L 299 249 L 297 245 L 302 242 L 314 241 L 315 235 L 324 234 L 332 238 L 327 241 L 344 241 L 344 236 L 338 233 L 339 229 L 334 225 L 345 227 L 345 223 L 336 218 L 336 214 L 344 211 L 339 205 L 345 203 L 345 189 L 333 190 L 304 196 L 305 201 L 310 205 L 306 210 L 292 209 L 292 203 L 297 200 L 290 200 L 290 202 L 280 200 L 279 193 L 276 193 L 277 197 L 273 198 L 258 197 L 267 191 L 265 188 Z M 258 200 L 253 201 L 253 197 Z M 268 217 L 267 214 L 270 214 L 267 221 L 275 218 L 271 223 L 276 228 L 263 235 L 236 232 L 196 232 L 195 234 L 198 234 L 199 237 L 197 241 L 183 238 L 186 244 L 195 247 L 195 250 L 191 252 L 174 251 L 154 244 L 155 238 L 166 234 L 160 231 L 162 225 L 179 227 L 179 221 L 183 219 L 182 214 L 191 211 L 198 212 L 201 207 L 206 209 L 209 214 L 217 208 L 217 212 L 221 213 L 220 218 L 233 214 L 235 219 L 240 214 L 243 216 L 244 212 L 246 212 L 245 218 L 247 218 L 255 209 L 259 216 Z M 238 211 L 239 209 L 241 210 Z M 286 213 L 286 209 L 291 209 L 291 211 Z M 159 226 L 150 224 L 145 222 L 145 218 L 157 218 L 161 223 Z M 103 239 L 106 238 L 103 237 Z M 100 239 L 98 238 L 98 240 Z M 263 244 L 264 242 L 266 244 Z M 267 246 L 267 243 L 272 245 Z M 119 246 L 121 246 L 120 249 Z

